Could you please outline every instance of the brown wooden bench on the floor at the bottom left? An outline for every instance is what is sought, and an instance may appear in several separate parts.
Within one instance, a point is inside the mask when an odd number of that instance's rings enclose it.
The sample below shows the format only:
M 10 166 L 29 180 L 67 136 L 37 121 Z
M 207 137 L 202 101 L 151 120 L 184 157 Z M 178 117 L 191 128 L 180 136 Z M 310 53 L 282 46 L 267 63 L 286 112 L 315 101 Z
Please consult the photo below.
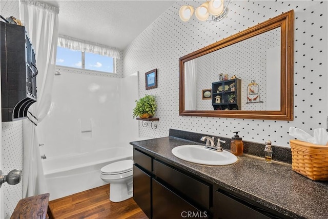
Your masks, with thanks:
M 48 205 L 48 202 L 49 202 L 49 193 L 23 198 L 19 200 L 10 219 L 16 219 L 16 218 L 54 219 L 54 216 Z

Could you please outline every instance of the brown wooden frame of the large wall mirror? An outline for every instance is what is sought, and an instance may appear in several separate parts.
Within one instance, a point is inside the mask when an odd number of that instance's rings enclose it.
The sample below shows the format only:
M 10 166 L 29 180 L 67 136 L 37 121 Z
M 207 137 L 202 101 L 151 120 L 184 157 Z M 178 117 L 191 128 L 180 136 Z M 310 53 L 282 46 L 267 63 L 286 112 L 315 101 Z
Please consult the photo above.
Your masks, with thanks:
M 242 111 L 242 110 L 185 110 L 185 62 L 206 55 L 221 48 L 233 45 L 258 34 L 281 29 L 281 72 L 280 72 L 280 110 Z M 222 39 L 219 42 L 199 49 L 179 58 L 179 115 L 250 118 L 261 120 L 293 120 L 293 74 L 294 74 L 294 11 L 285 12 L 268 21 Z M 213 81 L 214 82 L 214 81 Z

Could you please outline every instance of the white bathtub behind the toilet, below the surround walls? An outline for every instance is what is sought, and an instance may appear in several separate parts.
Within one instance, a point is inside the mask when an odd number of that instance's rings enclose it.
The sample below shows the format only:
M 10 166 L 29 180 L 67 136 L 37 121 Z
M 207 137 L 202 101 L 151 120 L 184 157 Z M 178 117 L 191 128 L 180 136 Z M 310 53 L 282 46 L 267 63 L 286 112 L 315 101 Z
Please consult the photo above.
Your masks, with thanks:
M 100 178 L 100 169 L 132 158 L 133 147 L 125 143 L 120 147 L 43 160 L 49 200 L 105 185 Z

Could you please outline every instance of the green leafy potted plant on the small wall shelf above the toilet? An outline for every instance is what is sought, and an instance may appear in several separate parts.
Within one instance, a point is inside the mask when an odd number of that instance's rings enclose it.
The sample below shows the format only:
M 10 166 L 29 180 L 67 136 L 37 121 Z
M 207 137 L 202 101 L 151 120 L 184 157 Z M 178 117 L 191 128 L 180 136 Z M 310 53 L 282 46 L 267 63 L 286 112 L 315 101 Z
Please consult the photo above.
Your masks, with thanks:
M 156 110 L 155 96 L 146 95 L 135 101 L 137 103 L 136 107 L 133 109 L 133 118 L 139 116 L 140 118 L 150 118 L 153 117 Z

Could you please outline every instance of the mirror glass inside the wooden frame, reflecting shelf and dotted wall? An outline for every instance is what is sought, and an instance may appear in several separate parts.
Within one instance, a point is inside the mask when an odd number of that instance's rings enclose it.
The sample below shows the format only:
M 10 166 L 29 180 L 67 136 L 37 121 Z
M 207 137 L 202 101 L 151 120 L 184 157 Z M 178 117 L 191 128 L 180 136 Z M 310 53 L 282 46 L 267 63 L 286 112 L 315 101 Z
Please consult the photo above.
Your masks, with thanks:
M 185 62 L 185 110 L 280 110 L 280 29 Z

